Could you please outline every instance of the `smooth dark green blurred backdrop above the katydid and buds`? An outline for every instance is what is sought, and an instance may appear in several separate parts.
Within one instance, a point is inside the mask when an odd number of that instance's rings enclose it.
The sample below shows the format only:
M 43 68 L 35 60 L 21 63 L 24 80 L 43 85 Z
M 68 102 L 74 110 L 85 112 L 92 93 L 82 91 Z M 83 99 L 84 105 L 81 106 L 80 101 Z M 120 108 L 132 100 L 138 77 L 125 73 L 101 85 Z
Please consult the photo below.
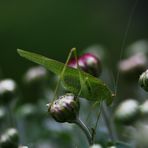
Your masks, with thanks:
M 69 49 L 102 44 L 115 67 L 135 0 L 0 1 L 1 77 L 20 80 L 32 63 L 17 48 L 64 61 Z M 126 45 L 148 37 L 148 2 L 141 0 L 131 20 Z

